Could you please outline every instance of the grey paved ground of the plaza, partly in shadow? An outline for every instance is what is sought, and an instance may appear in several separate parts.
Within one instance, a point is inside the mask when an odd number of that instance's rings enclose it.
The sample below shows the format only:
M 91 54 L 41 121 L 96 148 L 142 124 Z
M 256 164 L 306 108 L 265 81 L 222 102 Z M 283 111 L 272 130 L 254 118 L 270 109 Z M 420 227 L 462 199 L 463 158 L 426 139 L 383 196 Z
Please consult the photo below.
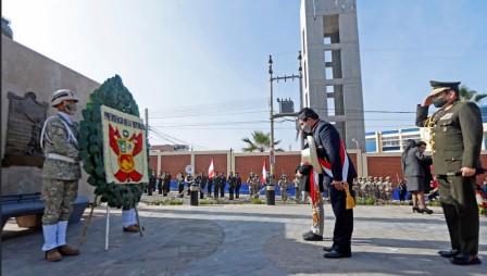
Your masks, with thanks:
M 311 223 L 304 204 L 225 204 L 139 206 L 143 237 L 122 233 L 121 212 L 111 210 L 110 250 L 104 251 L 103 208 L 96 209 L 82 255 L 43 261 L 39 230 L 2 233 L 2 275 L 487 275 L 487 218 L 480 218 L 484 263 L 454 266 L 437 255 L 449 248 L 440 209 L 413 214 L 410 206 L 357 206 L 353 256 L 323 258 L 334 226 L 325 205 L 325 240 L 307 242 Z M 84 219 L 68 228 L 77 246 Z

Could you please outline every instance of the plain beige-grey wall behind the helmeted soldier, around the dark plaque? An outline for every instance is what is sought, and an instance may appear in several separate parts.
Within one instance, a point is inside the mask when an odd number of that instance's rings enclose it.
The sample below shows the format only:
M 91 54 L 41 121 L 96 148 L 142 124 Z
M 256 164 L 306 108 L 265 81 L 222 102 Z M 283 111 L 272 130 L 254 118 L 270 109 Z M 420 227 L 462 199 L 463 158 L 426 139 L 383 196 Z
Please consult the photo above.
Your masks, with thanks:
M 4 158 L 7 123 L 9 120 L 9 92 L 24 97 L 34 92 L 36 100 L 49 103 L 52 91 L 60 88 L 73 89 L 79 98 L 79 106 L 85 108 L 89 93 L 100 85 L 79 73 L 53 61 L 2 35 L 2 93 L 1 93 L 1 159 Z M 48 109 L 48 116 L 55 111 Z M 77 113 L 80 120 L 80 112 Z M 92 188 L 86 183 L 84 173 L 79 183 L 79 193 L 91 197 Z M 41 189 L 40 168 L 33 166 L 2 167 L 2 193 L 30 193 Z

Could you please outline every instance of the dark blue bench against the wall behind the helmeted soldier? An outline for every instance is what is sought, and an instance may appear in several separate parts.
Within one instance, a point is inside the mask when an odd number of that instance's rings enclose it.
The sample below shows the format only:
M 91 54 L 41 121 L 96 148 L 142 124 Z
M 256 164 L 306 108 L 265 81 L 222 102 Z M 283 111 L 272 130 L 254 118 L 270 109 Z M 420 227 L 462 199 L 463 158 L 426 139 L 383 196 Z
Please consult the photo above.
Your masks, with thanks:
M 0 204 L 2 211 L 2 229 L 9 218 L 26 215 L 42 215 L 45 208 L 39 192 L 1 196 Z M 73 213 L 71 214 L 70 223 L 79 222 L 87 205 L 88 198 L 78 196 L 73 203 Z

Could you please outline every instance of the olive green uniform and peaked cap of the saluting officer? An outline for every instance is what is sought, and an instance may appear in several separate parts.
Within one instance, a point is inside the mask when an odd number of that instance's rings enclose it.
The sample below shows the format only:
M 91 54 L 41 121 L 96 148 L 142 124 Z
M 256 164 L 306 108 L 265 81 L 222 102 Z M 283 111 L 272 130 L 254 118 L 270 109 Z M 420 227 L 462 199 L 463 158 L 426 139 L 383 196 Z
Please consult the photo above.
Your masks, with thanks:
M 455 89 L 460 83 L 432 81 L 434 93 L 441 87 Z M 444 89 L 445 91 L 445 89 Z M 462 177 L 462 167 L 480 167 L 482 116 L 473 102 L 457 101 L 428 116 L 428 106 L 417 106 L 416 125 L 432 130 L 434 173 L 453 250 L 478 253 L 478 206 L 475 176 Z

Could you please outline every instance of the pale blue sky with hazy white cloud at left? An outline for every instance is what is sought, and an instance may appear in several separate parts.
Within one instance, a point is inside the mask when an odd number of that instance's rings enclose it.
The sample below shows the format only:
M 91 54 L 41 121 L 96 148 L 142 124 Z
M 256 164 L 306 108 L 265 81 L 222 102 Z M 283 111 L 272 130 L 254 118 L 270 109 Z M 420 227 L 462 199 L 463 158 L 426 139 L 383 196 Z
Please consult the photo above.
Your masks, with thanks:
M 357 5 L 366 131 L 413 126 L 429 79 L 487 92 L 487 1 Z M 269 54 L 276 75 L 297 73 L 299 10 L 299 0 L 2 1 L 14 40 L 100 84 L 118 74 L 149 111 L 151 145 L 193 150 L 241 151 L 244 137 L 270 130 Z M 274 95 L 299 108 L 297 81 Z M 277 123 L 275 137 L 299 148 L 295 123 Z

